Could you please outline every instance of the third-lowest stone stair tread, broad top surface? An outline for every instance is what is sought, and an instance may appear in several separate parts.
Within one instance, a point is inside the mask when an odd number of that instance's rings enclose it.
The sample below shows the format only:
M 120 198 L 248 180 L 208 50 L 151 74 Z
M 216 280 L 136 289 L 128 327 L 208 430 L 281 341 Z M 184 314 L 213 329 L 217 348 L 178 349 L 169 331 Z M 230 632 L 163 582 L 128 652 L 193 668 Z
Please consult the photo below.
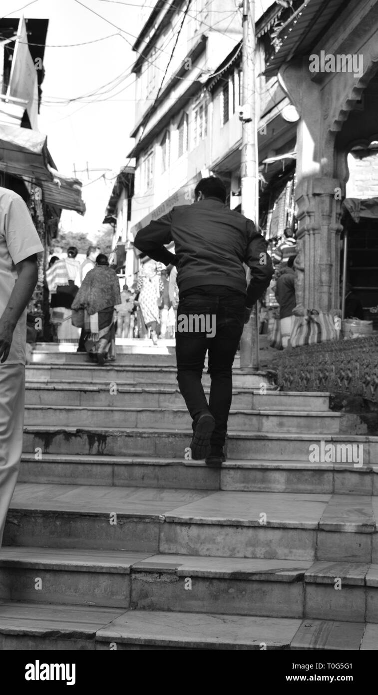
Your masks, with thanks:
M 10 509 L 110 514 L 157 518 L 161 522 L 327 528 L 375 532 L 375 498 L 368 496 L 200 491 L 148 487 L 111 487 L 19 483 Z M 376 511 L 378 511 L 378 502 Z

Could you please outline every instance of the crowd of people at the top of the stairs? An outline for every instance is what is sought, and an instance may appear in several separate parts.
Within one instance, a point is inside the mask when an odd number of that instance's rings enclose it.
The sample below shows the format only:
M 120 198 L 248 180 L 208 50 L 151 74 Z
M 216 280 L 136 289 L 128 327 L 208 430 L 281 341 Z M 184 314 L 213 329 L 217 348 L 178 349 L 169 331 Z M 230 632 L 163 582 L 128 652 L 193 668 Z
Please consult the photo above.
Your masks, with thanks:
M 177 270 L 146 259 L 135 281 L 123 284 L 108 257 L 89 246 L 83 263 L 71 246 L 67 258 L 53 255 L 46 270 L 53 341 L 76 342 L 98 363 L 115 359 L 115 338 L 174 338 Z

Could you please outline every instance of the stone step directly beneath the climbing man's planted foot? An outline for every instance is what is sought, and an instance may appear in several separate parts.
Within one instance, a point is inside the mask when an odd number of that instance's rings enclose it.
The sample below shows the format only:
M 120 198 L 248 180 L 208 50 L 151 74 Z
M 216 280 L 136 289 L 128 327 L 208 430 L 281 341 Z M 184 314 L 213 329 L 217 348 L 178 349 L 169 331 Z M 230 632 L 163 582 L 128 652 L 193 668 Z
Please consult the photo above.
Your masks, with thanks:
M 378 466 L 309 461 L 204 461 L 115 456 L 23 454 L 19 482 L 166 487 L 250 492 L 378 495 Z

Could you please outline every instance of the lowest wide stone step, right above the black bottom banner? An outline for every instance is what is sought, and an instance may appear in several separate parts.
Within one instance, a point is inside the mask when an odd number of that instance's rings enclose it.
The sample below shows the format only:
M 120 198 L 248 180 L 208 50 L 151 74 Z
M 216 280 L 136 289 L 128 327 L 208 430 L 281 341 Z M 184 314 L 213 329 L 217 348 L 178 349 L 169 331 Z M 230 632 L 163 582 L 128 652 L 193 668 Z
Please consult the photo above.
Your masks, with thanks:
M 376 649 L 378 625 L 325 620 L 0 603 L 3 649 L 28 636 L 38 648 Z M 45 641 L 45 644 L 43 644 Z M 87 643 L 87 644 L 86 644 Z M 9 644 L 9 646 L 8 646 Z M 28 646 L 33 648 L 33 646 Z M 299 671 L 298 671 L 299 673 Z

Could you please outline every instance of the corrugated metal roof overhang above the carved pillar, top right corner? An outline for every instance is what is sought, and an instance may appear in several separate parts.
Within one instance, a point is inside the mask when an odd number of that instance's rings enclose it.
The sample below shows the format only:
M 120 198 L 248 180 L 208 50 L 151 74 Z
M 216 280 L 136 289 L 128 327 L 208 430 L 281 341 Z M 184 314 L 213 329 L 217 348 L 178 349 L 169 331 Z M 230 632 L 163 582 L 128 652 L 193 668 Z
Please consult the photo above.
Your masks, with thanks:
M 282 41 L 275 56 L 266 65 L 265 74 L 275 74 L 282 63 L 294 54 L 306 54 L 313 47 L 318 36 L 325 33 L 334 15 L 343 8 L 349 0 L 307 0 L 298 9 L 298 14 L 284 24 L 277 33 L 277 39 Z

